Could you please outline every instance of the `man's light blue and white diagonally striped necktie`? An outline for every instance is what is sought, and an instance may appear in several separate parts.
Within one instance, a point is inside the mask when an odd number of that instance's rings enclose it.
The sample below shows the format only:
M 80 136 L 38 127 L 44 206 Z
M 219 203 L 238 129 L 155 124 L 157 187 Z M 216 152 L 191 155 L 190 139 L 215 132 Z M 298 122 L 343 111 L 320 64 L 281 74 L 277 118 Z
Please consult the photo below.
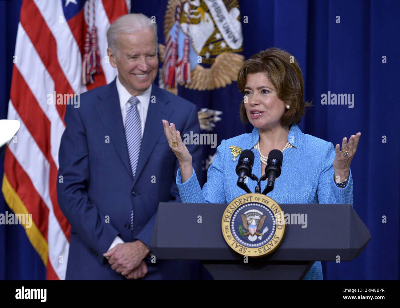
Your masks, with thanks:
M 136 168 L 138 167 L 140 144 L 142 143 L 142 124 L 140 122 L 140 115 L 138 107 L 139 99 L 132 96 L 128 103 L 125 119 L 125 136 L 126 145 L 128 146 L 128 155 L 130 161 L 130 168 L 132 169 L 132 177 L 135 177 Z

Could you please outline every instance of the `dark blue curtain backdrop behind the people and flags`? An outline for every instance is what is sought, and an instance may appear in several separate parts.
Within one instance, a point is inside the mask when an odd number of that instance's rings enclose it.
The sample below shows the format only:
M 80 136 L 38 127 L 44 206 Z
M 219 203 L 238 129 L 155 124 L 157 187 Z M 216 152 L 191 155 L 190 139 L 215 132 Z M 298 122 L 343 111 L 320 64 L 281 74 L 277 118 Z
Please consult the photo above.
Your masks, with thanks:
M 159 42 L 167 0 L 132 1 L 132 12 L 156 16 Z M 313 107 L 300 123 L 304 133 L 333 144 L 362 132 L 351 169 L 354 208 L 372 238 L 352 262 L 322 262 L 324 279 L 399 279 L 399 33 L 400 2 L 389 0 L 241 0 L 246 59 L 279 47 L 300 63 L 305 99 Z M 6 118 L 21 1 L 0 2 L 0 118 Z M 340 24 L 336 23 L 340 16 Z M 386 56 L 387 63 L 382 63 Z M 322 105 L 321 94 L 353 93 L 354 108 Z M 236 83 L 212 93 L 180 89 L 198 107 L 221 110 L 218 142 L 251 130 L 238 120 Z M 386 143 L 382 143 L 386 136 Z M 3 149 L 2 149 L 3 150 Z M 212 154 L 215 149 L 206 149 Z M 315 149 L 318 151 L 318 149 Z M 0 161 L 2 178 L 3 157 Z M 0 213 L 10 211 L 0 196 Z M 387 222 L 382 223 L 386 216 Z M 332 231 L 334 232 L 334 231 Z M 0 225 L 0 279 L 44 279 L 45 268 L 21 226 Z

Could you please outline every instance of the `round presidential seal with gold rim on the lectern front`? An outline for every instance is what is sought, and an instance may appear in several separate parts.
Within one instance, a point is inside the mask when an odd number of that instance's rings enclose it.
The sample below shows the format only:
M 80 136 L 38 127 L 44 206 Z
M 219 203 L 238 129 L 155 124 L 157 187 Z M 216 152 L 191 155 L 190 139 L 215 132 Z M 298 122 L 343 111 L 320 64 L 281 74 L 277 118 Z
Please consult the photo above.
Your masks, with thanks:
M 273 199 L 249 193 L 234 199 L 222 217 L 229 247 L 244 256 L 265 256 L 278 248 L 285 232 L 282 209 Z

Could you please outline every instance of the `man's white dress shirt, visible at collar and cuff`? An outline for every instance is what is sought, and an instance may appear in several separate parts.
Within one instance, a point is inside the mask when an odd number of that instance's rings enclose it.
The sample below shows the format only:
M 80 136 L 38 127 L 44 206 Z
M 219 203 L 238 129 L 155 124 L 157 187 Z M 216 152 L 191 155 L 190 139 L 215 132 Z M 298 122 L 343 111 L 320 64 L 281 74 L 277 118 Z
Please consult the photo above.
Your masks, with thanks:
M 126 120 L 126 111 L 128 110 L 128 100 L 132 97 L 132 94 L 122 85 L 120 79 L 117 76 L 117 91 L 118 97 L 120 99 L 120 107 L 122 113 L 122 123 L 124 123 L 125 127 L 125 120 Z M 151 94 L 152 85 L 144 91 L 142 94 L 137 95 L 136 97 L 139 99 L 139 103 L 136 105 L 138 107 L 139 115 L 140 115 L 140 123 L 142 124 L 142 137 L 144 133 L 144 124 L 146 123 L 147 111 L 150 103 L 150 94 Z M 112 244 L 108 250 L 114 248 L 117 244 L 122 244 L 124 241 L 119 236 L 116 236 L 112 241 Z M 108 259 L 108 258 L 107 258 Z

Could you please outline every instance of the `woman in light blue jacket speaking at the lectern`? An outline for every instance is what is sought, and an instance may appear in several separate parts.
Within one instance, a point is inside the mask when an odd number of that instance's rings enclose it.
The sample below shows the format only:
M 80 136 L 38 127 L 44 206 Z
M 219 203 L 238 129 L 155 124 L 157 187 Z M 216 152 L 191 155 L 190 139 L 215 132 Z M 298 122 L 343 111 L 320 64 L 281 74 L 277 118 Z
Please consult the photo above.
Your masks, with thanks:
M 252 173 L 265 173 L 268 153 L 283 153 L 281 175 L 268 197 L 277 203 L 353 203 L 350 163 L 361 133 L 344 137 L 337 144 L 306 135 L 297 126 L 304 109 L 304 81 L 298 62 L 278 48 L 268 48 L 246 60 L 238 72 L 238 88 L 244 95 L 240 105 L 243 123 L 254 126 L 251 133 L 222 140 L 208 169 L 207 183 L 200 188 L 192 167 L 192 156 L 173 123 L 163 120 L 164 133 L 180 168 L 176 176 L 183 203 L 230 203 L 244 191 L 236 185 L 236 159 L 231 146 L 254 152 Z M 292 61 L 293 62 L 293 61 Z M 263 183 L 264 182 L 264 183 Z M 261 182 L 265 187 L 266 181 Z M 255 181 L 247 183 L 254 191 Z M 314 262 L 304 280 L 322 280 L 320 261 Z

